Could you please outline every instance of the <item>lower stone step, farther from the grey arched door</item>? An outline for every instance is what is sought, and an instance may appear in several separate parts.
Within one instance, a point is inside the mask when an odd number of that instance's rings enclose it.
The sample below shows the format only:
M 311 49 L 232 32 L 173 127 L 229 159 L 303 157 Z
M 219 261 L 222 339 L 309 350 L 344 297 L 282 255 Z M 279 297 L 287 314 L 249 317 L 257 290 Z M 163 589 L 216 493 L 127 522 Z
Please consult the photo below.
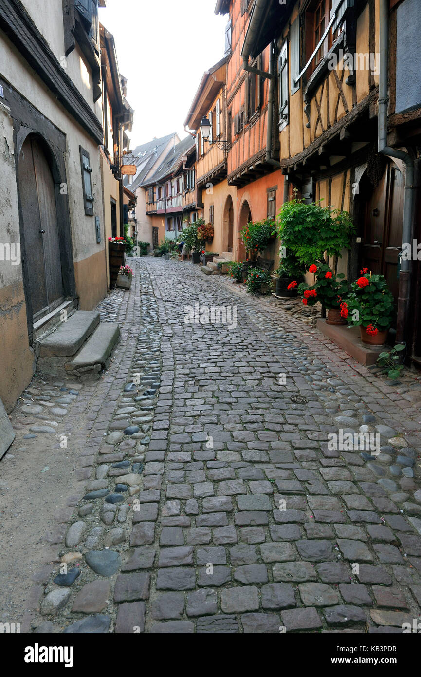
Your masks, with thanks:
M 99 372 L 108 361 L 112 349 L 120 338 L 120 327 L 114 322 L 99 324 L 81 351 L 70 362 L 66 362 L 66 372 Z M 76 375 L 76 374 L 74 374 Z

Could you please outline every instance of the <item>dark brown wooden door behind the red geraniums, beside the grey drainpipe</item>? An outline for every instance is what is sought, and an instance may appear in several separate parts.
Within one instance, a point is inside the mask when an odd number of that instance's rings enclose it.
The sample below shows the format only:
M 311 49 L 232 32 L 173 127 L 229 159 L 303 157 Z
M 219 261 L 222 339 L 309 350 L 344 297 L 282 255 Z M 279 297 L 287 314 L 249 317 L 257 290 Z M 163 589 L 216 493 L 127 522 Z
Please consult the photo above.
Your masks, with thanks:
M 386 277 L 397 301 L 398 257 L 402 244 L 405 180 L 391 163 L 365 200 L 361 267 Z

